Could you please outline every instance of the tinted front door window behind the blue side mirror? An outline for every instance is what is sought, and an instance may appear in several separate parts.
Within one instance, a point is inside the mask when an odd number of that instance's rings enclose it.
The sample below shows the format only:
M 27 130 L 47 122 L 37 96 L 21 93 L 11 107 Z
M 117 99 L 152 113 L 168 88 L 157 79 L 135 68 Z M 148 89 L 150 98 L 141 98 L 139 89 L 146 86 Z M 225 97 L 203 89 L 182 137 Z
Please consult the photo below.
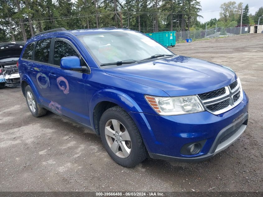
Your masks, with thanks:
M 77 52 L 68 43 L 56 41 L 54 47 L 54 64 L 60 66 L 60 59 L 68 56 L 77 56 Z

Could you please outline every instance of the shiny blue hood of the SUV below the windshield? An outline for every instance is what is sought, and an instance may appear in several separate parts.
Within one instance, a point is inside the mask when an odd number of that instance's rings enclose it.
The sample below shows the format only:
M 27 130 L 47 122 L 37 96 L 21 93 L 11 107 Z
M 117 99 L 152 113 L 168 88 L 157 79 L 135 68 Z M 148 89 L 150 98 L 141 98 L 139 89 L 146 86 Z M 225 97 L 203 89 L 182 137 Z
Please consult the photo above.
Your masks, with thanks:
M 231 68 L 176 56 L 148 63 L 107 68 L 107 74 L 165 91 L 169 96 L 195 95 L 229 85 L 237 79 Z M 154 92 L 152 93 L 154 96 Z

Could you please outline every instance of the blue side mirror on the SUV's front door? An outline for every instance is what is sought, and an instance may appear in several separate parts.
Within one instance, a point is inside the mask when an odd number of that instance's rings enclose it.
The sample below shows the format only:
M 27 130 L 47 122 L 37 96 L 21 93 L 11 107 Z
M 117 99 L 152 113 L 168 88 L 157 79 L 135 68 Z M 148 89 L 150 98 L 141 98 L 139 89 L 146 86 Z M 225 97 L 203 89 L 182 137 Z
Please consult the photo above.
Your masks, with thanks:
M 64 70 L 76 70 L 76 71 L 86 71 L 86 66 L 80 65 L 80 59 L 77 56 L 68 56 L 61 58 L 60 68 Z

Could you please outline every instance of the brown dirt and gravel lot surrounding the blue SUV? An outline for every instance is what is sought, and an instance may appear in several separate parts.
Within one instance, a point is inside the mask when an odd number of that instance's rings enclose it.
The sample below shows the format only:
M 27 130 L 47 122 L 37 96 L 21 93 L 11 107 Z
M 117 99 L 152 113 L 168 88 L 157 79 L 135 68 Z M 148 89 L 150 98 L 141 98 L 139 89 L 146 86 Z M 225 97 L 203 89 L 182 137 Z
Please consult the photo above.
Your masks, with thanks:
M 250 98 L 249 123 L 198 163 L 111 160 L 99 136 L 53 113 L 35 118 L 20 88 L 0 90 L 0 191 L 263 191 L 263 34 L 177 44 L 176 54 L 231 67 Z M 212 189 L 211 189 L 212 188 Z

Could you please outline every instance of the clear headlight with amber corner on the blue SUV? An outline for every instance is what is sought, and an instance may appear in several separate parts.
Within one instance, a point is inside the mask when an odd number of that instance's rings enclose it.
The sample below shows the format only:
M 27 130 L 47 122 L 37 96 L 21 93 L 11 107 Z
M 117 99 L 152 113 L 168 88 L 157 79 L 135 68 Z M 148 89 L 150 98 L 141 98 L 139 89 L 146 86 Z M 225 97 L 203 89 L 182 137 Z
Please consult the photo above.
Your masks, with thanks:
M 156 97 L 145 95 L 144 97 L 160 115 L 179 115 L 204 111 L 204 107 L 197 96 Z

